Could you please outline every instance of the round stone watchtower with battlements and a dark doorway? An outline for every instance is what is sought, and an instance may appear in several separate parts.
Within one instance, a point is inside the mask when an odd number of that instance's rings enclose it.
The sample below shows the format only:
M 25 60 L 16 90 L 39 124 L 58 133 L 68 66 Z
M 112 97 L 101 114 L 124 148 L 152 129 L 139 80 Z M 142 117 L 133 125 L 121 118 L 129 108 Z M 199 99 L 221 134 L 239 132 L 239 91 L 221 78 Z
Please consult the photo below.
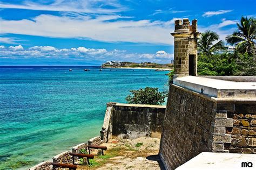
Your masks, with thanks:
M 174 37 L 174 77 L 193 75 L 197 76 L 197 20 L 184 18 L 175 20 Z

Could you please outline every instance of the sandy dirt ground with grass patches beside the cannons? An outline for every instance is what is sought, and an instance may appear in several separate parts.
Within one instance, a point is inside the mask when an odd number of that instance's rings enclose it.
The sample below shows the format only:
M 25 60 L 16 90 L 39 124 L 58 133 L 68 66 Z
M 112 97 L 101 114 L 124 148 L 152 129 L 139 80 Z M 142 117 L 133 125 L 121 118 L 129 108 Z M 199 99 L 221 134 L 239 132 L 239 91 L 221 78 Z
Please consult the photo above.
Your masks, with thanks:
M 95 156 L 90 166 L 78 169 L 164 169 L 158 156 L 160 139 L 112 139 L 104 155 Z

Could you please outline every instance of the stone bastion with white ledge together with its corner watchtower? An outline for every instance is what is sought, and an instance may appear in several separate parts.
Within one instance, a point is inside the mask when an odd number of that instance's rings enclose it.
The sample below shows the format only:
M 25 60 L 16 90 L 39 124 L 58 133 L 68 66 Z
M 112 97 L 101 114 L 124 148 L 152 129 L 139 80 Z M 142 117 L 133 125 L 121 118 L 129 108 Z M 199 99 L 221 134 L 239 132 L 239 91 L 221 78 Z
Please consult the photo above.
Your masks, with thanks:
M 175 21 L 174 79 L 160 158 L 174 169 L 201 152 L 256 153 L 256 78 L 197 76 L 197 20 Z

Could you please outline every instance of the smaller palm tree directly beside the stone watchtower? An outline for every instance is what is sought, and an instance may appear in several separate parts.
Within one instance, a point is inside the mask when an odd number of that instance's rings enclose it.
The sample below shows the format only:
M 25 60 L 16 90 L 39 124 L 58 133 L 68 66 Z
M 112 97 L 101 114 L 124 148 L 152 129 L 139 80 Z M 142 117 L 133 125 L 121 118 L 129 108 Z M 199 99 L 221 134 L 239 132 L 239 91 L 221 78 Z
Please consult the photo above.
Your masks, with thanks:
M 198 51 L 199 53 L 205 53 L 206 55 L 211 55 L 214 51 L 218 49 L 224 49 L 224 41 L 220 40 L 214 44 L 215 41 L 219 39 L 217 32 L 207 30 L 200 35 L 198 38 Z

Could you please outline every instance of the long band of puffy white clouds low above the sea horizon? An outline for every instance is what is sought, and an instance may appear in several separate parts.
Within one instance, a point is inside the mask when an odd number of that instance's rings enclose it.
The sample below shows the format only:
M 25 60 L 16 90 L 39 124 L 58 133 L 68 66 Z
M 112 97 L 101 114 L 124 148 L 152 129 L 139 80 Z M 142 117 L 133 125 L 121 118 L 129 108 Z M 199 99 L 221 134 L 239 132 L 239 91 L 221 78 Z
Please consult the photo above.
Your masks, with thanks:
M 28 49 L 24 49 L 21 45 L 10 46 L 9 48 L 1 48 L 0 46 L 0 59 L 28 59 L 28 58 L 48 58 L 48 59 L 74 59 L 74 60 L 120 60 L 120 61 L 151 61 L 170 63 L 173 58 L 173 54 L 166 53 L 165 51 L 158 51 L 155 54 L 149 53 L 127 53 L 124 50 L 114 49 L 107 51 L 104 48 L 63 48 L 57 49 L 52 47 L 52 50 L 44 50 L 49 46 L 35 46 Z M 54 49 L 53 49 L 54 48 Z

